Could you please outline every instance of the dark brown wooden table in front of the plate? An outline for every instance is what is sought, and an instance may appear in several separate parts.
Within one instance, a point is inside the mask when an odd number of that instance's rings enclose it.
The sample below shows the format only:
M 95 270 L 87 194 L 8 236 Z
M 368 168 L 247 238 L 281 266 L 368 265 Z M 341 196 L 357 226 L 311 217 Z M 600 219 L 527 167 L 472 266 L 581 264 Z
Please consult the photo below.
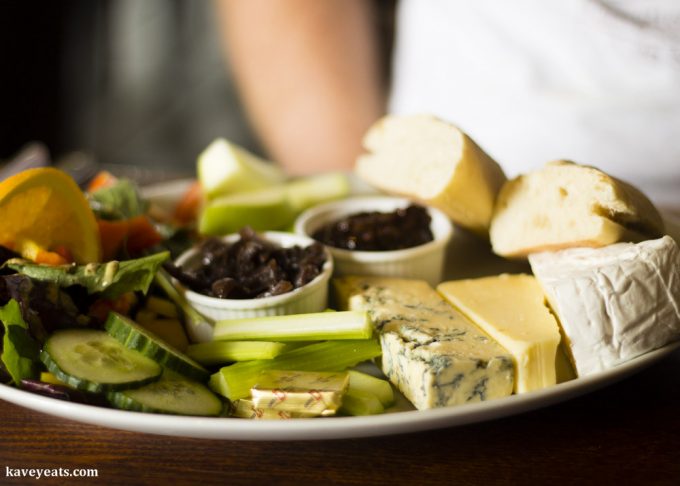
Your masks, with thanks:
M 235 442 L 123 432 L 0 401 L 6 468 L 97 468 L 48 484 L 680 484 L 680 352 L 515 417 L 389 437 Z

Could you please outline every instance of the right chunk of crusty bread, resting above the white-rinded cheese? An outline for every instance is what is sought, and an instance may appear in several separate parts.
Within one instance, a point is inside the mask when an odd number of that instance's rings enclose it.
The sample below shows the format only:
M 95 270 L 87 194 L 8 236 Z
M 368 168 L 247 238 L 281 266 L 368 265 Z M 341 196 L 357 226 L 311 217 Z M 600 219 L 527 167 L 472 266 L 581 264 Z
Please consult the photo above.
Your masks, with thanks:
M 505 257 L 577 246 L 641 241 L 664 233 L 639 190 L 604 172 L 555 161 L 505 183 L 491 221 L 491 245 Z

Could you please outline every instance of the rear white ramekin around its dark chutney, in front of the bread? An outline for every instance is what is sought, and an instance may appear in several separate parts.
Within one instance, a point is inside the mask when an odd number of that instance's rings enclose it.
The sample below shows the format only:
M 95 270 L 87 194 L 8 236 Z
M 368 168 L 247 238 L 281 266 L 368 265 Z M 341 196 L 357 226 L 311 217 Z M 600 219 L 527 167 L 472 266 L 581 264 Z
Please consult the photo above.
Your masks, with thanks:
M 390 212 L 405 208 L 412 201 L 400 197 L 354 197 L 308 209 L 295 221 L 295 232 L 311 237 L 320 227 L 362 211 Z M 451 220 L 435 208 L 427 208 L 434 239 L 423 245 L 392 251 L 353 251 L 328 247 L 333 255 L 335 275 L 371 275 L 441 282 L 446 246 L 453 234 Z

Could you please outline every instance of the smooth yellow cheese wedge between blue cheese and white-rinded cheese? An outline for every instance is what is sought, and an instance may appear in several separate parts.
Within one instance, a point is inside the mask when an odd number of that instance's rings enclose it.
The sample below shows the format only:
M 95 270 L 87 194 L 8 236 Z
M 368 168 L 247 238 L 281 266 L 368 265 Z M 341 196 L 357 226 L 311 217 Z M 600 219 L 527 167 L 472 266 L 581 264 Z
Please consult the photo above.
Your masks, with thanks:
M 457 280 L 437 290 L 512 354 L 516 393 L 555 384 L 560 331 L 534 277 L 504 274 Z

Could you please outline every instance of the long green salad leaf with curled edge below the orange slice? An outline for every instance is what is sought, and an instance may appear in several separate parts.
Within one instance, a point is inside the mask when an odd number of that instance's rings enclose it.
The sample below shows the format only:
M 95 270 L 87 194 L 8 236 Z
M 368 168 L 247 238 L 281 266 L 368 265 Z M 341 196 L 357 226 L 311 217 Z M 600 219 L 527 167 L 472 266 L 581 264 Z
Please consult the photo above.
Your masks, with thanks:
M 126 292 L 149 290 L 154 275 L 170 252 L 163 251 L 134 260 L 113 260 L 87 265 L 40 265 L 26 260 L 9 260 L 5 265 L 34 280 L 53 282 L 59 287 L 80 285 L 88 294 L 101 293 L 115 299 Z

